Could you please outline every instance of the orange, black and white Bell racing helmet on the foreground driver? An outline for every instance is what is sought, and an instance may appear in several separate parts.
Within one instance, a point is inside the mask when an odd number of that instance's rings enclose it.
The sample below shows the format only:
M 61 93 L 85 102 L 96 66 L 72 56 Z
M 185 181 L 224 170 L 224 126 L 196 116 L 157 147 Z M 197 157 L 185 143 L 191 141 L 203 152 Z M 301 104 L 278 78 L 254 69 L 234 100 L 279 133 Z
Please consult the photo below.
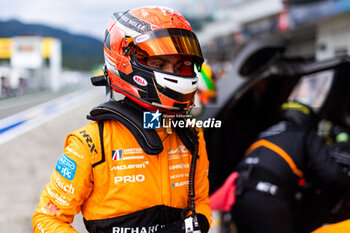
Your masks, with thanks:
M 152 56 L 179 55 L 180 72 L 147 66 Z M 114 13 L 104 41 L 105 76 L 111 88 L 147 110 L 184 113 L 197 90 L 195 69 L 204 61 L 196 35 L 177 11 L 140 7 Z

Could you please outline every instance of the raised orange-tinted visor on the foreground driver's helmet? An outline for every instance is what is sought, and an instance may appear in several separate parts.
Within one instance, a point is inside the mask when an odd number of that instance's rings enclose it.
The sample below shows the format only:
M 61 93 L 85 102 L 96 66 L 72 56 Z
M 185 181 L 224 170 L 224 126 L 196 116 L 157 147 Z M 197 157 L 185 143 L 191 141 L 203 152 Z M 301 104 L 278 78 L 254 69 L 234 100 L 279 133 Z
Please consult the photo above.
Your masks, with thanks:
M 201 66 L 204 59 L 196 35 L 185 29 L 169 28 L 151 31 L 133 38 L 136 53 L 142 56 L 181 54 L 197 58 Z

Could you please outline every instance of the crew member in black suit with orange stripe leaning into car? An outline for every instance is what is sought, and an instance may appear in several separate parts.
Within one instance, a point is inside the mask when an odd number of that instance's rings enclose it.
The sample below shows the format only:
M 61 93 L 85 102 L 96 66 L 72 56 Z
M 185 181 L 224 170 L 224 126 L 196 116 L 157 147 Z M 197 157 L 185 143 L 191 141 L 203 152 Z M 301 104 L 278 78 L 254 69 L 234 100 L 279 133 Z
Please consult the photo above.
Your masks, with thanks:
M 317 135 L 317 119 L 307 105 L 282 105 L 282 120 L 260 133 L 237 165 L 233 214 L 238 233 L 294 233 L 292 200 L 305 180 L 350 188 L 350 176 Z

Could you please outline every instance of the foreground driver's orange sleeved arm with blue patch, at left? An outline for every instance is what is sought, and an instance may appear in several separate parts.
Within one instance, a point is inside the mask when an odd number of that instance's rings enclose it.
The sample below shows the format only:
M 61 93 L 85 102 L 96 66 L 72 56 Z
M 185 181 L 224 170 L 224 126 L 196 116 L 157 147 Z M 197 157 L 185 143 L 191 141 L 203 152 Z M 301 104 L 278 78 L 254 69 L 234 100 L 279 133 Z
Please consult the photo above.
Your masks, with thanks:
M 92 190 L 90 151 L 79 135 L 68 135 L 63 154 L 33 216 L 33 231 L 77 232 L 70 225 Z

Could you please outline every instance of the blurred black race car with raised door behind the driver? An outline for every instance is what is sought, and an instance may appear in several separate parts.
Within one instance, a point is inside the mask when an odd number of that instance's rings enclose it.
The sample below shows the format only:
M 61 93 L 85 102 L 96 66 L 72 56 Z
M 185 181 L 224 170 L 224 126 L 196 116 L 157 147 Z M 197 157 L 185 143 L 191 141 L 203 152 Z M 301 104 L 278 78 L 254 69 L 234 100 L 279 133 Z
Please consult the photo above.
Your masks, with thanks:
M 237 72 L 244 82 L 212 116 L 222 121 L 222 127 L 205 131 L 211 193 L 224 183 L 258 133 L 278 122 L 280 106 L 287 100 L 308 104 L 319 119 L 350 129 L 350 57 L 290 58 L 284 55 L 285 48 L 283 43 L 255 41 L 238 55 Z M 301 195 L 296 200 L 298 232 L 350 217 L 349 211 L 334 212 L 337 203 L 328 202 L 322 190 L 304 189 Z

